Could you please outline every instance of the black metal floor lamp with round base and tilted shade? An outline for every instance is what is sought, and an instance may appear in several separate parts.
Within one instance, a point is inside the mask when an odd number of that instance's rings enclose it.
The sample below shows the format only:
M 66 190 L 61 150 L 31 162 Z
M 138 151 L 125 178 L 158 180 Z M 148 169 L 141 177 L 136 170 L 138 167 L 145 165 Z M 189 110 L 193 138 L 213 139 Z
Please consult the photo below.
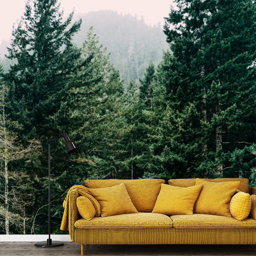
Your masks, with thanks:
M 78 148 L 76 146 L 76 143 L 72 140 L 70 140 L 69 136 L 68 136 L 68 133 L 64 132 L 64 131 L 60 131 L 59 135 L 54 137 L 54 138 L 49 138 L 48 139 L 48 142 L 49 142 L 49 152 L 48 152 L 48 162 L 49 162 L 49 185 L 48 185 L 48 188 L 49 188 L 49 238 L 47 239 L 47 241 L 41 241 L 41 242 L 37 242 L 35 243 L 36 246 L 38 247 L 56 247 L 56 246 L 60 246 L 60 245 L 63 245 L 64 243 L 63 242 L 60 242 L 60 241 L 52 241 L 51 237 L 50 237 L 50 234 L 51 234 L 51 222 L 50 222 L 50 216 L 51 216 L 51 207 L 50 207 L 50 201 L 51 201 L 51 184 L 50 184 L 50 178 L 51 178 L 51 173 L 50 173 L 50 158 L 51 158 L 51 154 L 50 154 L 50 151 L 51 151 L 51 141 L 56 139 L 56 138 L 59 138 L 63 136 L 64 137 L 64 140 L 66 142 L 65 144 L 65 148 L 66 148 L 66 151 L 68 154 L 73 154 L 75 153 Z

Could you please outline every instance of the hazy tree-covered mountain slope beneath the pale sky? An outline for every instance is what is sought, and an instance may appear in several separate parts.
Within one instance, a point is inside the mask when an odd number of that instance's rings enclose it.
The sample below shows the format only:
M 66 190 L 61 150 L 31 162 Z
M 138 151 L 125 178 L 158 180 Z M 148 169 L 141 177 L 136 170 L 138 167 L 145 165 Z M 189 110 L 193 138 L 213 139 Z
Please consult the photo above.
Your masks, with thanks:
M 74 15 L 74 20 L 79 18 L 83 22 L 74 42 L 82 45 L 89 28 L 93 26 L 94 32 L 100 37 L 100 43 L 111 52 L 110 60 L 126 83 L 130 79 L 143 77 L 150 61 L 157 66 L 162 59 L 163 50 L 168 47 L 160 23 L 150 27 L 143 18 L 110 10 Z

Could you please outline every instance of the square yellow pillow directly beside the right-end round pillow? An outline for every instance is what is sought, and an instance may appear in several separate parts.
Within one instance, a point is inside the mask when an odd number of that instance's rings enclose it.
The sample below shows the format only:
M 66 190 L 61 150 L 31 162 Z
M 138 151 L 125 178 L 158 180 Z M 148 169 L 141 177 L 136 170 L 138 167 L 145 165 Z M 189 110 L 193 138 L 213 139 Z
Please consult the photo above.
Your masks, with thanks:
M 231 217 L 229 202 L 239 183 L 240 181 L 209 182 L 197 178 L 196 185 L 202 185 L 202 189 L 194 205 L 194 213 Z

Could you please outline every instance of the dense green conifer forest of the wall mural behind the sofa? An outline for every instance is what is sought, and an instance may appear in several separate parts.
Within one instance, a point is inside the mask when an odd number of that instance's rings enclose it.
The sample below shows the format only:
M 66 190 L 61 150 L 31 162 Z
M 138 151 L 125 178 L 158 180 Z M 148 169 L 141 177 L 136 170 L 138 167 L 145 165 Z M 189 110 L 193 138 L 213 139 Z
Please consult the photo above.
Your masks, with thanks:
M 68 234 L 62 203 L 85 179 L 240 177 L 256 186 L 255 2 L 176 2 L 160 63 L 129 44 L 119 66 L 90 24 L 74 43 L 83 21 L 64 19 L 57 0 L 27 3 L 11 66 L 0 71 L 0 234 L 48 234 L 47 139 L 61 130 L 79 151 L 51 143 L 52 234 Z

